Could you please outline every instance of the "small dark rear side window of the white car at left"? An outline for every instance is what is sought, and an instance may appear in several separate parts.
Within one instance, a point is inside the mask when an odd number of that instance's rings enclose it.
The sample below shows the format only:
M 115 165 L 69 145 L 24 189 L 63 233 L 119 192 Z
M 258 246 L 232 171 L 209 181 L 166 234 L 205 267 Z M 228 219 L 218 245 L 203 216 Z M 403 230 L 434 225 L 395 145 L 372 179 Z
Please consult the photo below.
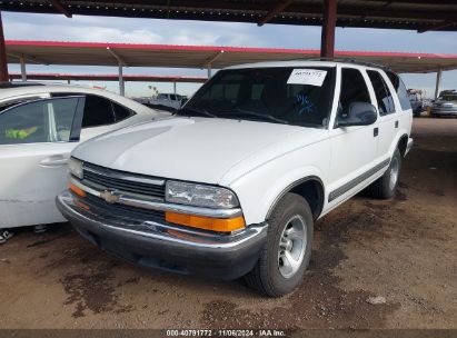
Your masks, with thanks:
M 86 96 L 82 128 L 111 125 L 115 121 L 113 109 L 108 99 L 92 95 Z

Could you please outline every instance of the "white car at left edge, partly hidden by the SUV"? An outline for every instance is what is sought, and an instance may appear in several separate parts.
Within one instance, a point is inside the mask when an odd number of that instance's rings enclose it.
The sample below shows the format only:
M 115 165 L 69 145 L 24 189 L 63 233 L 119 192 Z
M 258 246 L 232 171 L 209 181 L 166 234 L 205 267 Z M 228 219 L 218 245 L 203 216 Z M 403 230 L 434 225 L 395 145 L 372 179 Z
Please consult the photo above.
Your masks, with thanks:
M 0 229 L 64 221 L 54 197 L 66 187 L 71 150 L 162 116 L 105 90 L 0 83 Z

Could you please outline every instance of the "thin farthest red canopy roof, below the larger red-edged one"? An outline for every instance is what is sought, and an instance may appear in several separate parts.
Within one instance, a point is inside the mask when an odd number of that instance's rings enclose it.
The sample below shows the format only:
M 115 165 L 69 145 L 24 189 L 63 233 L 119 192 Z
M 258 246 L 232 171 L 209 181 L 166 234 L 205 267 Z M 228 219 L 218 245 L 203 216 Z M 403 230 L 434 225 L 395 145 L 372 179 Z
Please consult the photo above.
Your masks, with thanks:
M 9 77 L 14 80 L 21 79 L 20 72 L 10 72 Z M 151 81 L 151 82 L 177 82 L 177 83 L 205 83 L 205 77 L 178 77 L 178 76 L 150 76 L 150 74 L 123 74 L 125 81 Z M 90 73 L 52 73 L 52 72 L 28 72 L 28 80 L 74 80 L 74 81 L 119 81 L 117 73 L 90 74 Z

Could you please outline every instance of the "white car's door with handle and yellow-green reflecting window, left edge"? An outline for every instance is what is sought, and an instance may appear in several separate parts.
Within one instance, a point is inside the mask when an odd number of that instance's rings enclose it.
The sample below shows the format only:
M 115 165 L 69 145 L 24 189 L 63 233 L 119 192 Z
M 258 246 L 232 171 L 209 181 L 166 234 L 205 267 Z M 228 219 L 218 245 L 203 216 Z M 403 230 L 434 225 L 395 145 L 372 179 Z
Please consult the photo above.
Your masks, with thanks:
M 54 198 L 66 187 L 83 101 L 48 98 L 0 110 L 0 227 L 64 220 Z

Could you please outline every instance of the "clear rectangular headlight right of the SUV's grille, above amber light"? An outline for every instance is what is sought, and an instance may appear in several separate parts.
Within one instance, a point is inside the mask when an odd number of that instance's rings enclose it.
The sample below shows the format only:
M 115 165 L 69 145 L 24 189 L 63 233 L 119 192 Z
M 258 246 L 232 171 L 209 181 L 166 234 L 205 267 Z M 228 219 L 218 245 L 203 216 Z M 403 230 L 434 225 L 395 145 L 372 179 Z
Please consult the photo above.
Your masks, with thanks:
M 178 181 L 167 181 L 166 200 L 206 208 L 235 208 L 239 206 L 237 197 L 229 189 Z

